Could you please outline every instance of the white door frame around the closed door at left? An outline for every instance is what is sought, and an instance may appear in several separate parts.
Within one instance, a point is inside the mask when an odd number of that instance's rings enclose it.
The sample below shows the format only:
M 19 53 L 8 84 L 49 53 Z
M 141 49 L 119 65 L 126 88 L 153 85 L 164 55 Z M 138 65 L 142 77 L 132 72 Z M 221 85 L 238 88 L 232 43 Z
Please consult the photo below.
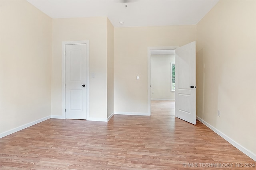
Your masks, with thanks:
M 89 117 L 90 105 L 89 105 L 89 40 L 84 41 L 62 41 L 62 119 L 66 119 L 66 89 L 65 89 L 65 82 L 66 82 L 66 64 L 65 64 L 65 45 L 72 45 L 72 44 L 86 44 L 86 117 Z

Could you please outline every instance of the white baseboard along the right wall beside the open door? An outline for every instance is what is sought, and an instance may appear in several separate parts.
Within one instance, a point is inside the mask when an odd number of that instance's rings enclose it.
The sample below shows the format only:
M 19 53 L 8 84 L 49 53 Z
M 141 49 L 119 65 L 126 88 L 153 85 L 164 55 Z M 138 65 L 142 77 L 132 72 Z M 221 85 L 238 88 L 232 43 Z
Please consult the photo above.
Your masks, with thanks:
M 212 131 L 214 131 L 215 133 L 220 135 L 222 138 L 224 138 L 226 141 L 228 141 L 231 145 L 236 147 L 238 150 L 240 150 L 241 152 L 243 152 L 244 154 L 246 154 L 247 156 L 252 158 L 254 161 L 256 161 L 256 154 L 254 154 L 250 150 L 244 148 L 242 145 L 240 145 L 239 143 L 237 143 L 236 141 L 234 141 L 233 139 L 231 139 L 230 137 L 228 137 L 227 135 L 225 135 L 224 133 L 222 133 L 221 131 L 219 131 L 218 129 L 216 129 L 215 127 L 213 127 L 212 125 L 210 125 L 209 123 L 207 123 L 206 121 L 201 119 L 200 117 L 196 116 L 196 119 L 198 119 L 204 125 L 209 127 Z

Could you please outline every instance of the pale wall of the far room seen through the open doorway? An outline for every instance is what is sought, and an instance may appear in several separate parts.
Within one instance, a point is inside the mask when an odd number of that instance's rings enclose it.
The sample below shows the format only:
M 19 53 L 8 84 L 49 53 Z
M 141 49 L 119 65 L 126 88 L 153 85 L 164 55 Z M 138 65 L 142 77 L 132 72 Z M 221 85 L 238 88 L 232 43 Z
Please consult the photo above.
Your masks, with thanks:
M 175 92 L 171 91 L 171 63 L 175 63 L 175 55 L 151 55 L 151 99 L 175 100 Z

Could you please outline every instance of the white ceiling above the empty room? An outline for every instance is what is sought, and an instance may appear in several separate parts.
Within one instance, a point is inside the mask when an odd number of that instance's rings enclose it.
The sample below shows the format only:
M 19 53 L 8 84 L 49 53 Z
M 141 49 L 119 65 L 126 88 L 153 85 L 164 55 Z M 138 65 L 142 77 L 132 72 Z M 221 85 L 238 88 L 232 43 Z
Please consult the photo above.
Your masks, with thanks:
M 28 0 L 51 18 L 107 16 L 114 27 L 195 25 L 218 0 Z M 127 2 L 125 7 L 124 2 Z M 120 25 L 120 21 L 124 23 Z

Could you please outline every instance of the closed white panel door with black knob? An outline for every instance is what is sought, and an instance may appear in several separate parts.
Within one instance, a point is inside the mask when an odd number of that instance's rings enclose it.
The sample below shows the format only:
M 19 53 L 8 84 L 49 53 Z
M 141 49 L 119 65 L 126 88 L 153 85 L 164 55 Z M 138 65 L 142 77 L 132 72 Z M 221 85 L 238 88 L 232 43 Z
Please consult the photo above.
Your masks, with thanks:
M 65 45 L 66 119 L 86 119 L 86 44 Z

